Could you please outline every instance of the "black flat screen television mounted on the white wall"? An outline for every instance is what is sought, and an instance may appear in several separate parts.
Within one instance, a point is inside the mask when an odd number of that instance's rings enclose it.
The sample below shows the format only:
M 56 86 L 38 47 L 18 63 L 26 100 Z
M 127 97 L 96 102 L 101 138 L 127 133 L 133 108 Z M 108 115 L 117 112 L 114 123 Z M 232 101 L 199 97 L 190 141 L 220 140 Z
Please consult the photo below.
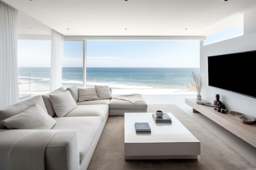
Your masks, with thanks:
M 208 56 L 209 86 L 256 98 L 256 51 Z

